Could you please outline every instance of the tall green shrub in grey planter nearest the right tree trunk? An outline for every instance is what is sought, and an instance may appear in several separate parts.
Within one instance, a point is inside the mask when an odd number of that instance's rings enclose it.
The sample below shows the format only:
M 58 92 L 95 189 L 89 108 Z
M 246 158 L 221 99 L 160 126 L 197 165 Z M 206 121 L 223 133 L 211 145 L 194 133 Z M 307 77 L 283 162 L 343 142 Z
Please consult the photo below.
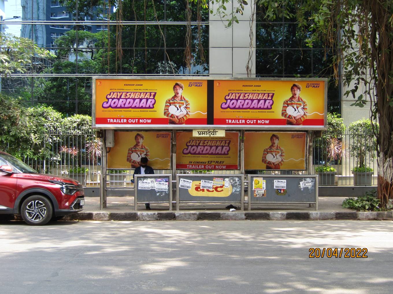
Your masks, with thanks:
M 375 132 L 378 132 L 378 129 L 378 123 L 365 118 L 349 125 L 352 139 L 351 156 L 355 160 L 355 167 L 352 169 L 354 185 L 371 185 L 374 170 L 367 162 L 373 162 L 375 157 Z

